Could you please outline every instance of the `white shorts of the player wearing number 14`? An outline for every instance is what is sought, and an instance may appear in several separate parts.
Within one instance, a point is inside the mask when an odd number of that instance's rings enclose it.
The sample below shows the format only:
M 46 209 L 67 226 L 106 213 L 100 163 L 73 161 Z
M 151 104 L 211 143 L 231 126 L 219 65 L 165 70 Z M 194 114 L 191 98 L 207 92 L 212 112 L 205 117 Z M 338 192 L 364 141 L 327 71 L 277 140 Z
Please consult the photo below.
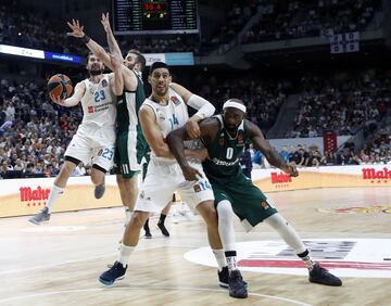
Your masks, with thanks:
M 181 200 L 193 211 L 201 202 L 213 201 L 213 191 L 201 164 L 190 163 L 190 165 L 197 168 L 203 178 L 187 181 L 177 163 L 152 158 L 148 165 L 147 177 L 141 184 L 135 211 L 160 213 L 173 200 L 174 191 L 180 193 Z

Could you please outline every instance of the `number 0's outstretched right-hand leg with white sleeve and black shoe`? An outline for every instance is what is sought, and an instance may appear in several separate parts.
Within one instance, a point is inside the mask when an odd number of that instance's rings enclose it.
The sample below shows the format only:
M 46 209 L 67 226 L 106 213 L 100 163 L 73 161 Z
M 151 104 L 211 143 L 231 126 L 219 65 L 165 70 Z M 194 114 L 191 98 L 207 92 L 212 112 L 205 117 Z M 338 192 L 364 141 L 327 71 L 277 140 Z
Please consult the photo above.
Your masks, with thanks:
M 315 263 L 298 232 L 279 213 L 266 218 L 265 222 L 273 227 L 283 241 L 294 250 L 299 258 L 305 263 L 310 271 L 308 280 L 311 282 L 335 286 L 342 285 L 342 281 L 338 277 L 331 275 L 319 264 Z

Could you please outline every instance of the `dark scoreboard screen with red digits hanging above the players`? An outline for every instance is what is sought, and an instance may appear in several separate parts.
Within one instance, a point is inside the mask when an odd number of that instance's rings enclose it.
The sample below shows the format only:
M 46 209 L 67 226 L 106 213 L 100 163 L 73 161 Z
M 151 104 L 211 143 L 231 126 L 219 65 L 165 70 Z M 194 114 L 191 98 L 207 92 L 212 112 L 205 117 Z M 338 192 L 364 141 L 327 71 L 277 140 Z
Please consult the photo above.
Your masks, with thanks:
M 114 0 L 114 34 L 198 33 L 197 0 Z

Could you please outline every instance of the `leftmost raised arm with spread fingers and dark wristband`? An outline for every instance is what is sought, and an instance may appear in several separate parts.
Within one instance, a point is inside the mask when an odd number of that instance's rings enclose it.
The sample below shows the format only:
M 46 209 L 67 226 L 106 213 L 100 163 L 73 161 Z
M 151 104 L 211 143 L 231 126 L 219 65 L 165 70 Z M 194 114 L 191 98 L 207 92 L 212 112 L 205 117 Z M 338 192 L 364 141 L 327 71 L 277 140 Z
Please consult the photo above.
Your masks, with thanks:
M 80 38 L 81 41 L 86 43 L 87 48 L 94 55 L 97 55 L 106 67 L 113 71 L 113 65 L 111 63 L 109 53 L 103 49 L 102 46 L 100 46 L 98 42 L 92 40 L 84 33 L 84 26 L 80 26 L 79 21 L 72 20 L 72 23 L 67 22 L 67 25 L 72 29 L 72 31 L 67 33 L 66 35 Z

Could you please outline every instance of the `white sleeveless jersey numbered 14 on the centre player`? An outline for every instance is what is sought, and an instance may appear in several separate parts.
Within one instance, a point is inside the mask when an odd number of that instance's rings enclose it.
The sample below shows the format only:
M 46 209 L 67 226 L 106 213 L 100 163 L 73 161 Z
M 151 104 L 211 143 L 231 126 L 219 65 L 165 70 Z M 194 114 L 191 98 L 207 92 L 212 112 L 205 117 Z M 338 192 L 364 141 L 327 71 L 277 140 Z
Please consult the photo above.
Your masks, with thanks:
M 166 105 L 153 102 L 148 98 L 143 102 L 143 104 L 149 105 L 153 110 L 156 116 L 156 124 L 164 139 L 171 131 L 185 126 L 189 119 L 188 107 L 184 99 L 172 88 L 168 89 L 168 97 Z M 153 151 L 151 157 L 160 161 L 175 162 L 165 157 L 157 157 Z

